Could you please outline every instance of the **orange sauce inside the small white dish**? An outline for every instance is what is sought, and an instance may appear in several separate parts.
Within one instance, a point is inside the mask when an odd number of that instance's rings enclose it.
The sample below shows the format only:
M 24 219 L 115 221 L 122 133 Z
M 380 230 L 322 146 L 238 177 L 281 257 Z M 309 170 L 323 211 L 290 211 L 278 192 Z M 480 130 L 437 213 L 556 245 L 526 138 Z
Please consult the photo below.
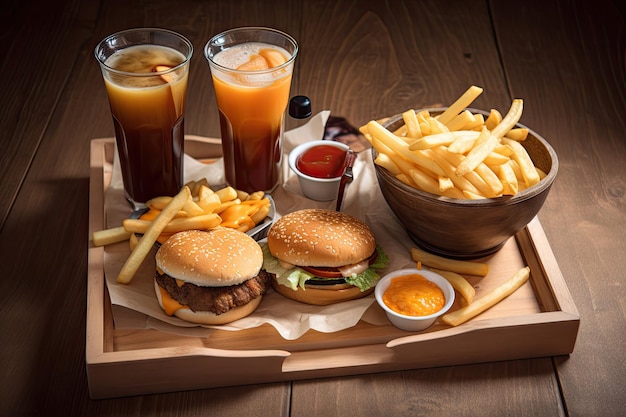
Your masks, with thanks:
M 405 316 L 429 316 L 443 308 L 443 291 L 420 274 L 403 275 L 391 280 L 383 302 Z

